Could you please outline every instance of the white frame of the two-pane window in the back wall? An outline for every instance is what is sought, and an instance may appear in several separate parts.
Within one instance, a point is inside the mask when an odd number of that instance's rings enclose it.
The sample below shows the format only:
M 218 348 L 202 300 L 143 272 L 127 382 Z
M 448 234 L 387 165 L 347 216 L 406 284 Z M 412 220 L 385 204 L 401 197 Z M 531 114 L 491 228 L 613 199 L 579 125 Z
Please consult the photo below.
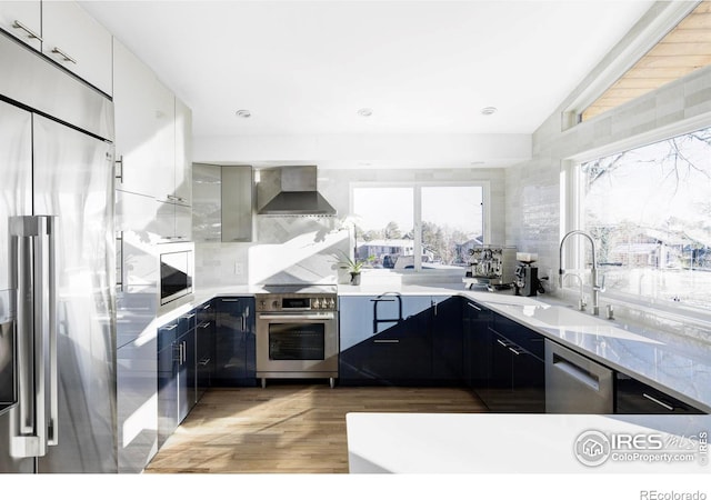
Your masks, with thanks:
M 484 243 L 491 240 L 491 182 L 488 180 L 472 181 L 357 181 L 349 184 L 349 213 L 356 213 L 354 190 L 359 188 L 411 188 L 413 190 L 413 233 L 414 233 L 414 267 L 413 269 L 368 269 L 367 272 L 388 272 L 388 273 L 431 273 L 431 274 L 452 274 L 462 273 L 460 270 L 452 269 L 422 269 L 422 188 L 481 188 L 481 218 L 482 218 L 482 237 Z M 353 236 L 349 236 L 349 253 L 353 252 Z

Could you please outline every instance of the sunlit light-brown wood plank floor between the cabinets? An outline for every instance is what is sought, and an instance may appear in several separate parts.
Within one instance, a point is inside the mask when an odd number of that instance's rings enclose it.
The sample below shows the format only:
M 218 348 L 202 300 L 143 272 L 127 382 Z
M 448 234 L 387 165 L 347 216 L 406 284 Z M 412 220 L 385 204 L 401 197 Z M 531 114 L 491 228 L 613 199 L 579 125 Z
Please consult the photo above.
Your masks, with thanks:
M 153 458 L 146 473 L 347 473 L 346 413 L 484 412 L 453 388 L 329 388 L 278 383 L 213 389 Z

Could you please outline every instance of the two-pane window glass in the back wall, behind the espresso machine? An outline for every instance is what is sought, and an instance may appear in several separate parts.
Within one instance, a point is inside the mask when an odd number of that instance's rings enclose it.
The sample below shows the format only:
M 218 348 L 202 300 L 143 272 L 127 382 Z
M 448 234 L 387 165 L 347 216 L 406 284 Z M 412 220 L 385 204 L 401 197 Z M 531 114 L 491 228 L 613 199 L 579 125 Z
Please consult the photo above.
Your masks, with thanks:
M 461 269 L 483 240 L 481 186 L 378 186 L 352 190 L 354 253 L 372 268 Z

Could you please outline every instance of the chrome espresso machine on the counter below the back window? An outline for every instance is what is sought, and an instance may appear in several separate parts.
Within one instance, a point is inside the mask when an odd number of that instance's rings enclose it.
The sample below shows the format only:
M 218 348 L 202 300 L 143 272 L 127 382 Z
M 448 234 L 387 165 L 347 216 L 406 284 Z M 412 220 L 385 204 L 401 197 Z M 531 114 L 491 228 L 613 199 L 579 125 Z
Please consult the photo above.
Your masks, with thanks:
M 490 291 L 510 289 L 515 280 L 515 247 L 484 244 L 469 250 L 468 288 L 487 287 Z

